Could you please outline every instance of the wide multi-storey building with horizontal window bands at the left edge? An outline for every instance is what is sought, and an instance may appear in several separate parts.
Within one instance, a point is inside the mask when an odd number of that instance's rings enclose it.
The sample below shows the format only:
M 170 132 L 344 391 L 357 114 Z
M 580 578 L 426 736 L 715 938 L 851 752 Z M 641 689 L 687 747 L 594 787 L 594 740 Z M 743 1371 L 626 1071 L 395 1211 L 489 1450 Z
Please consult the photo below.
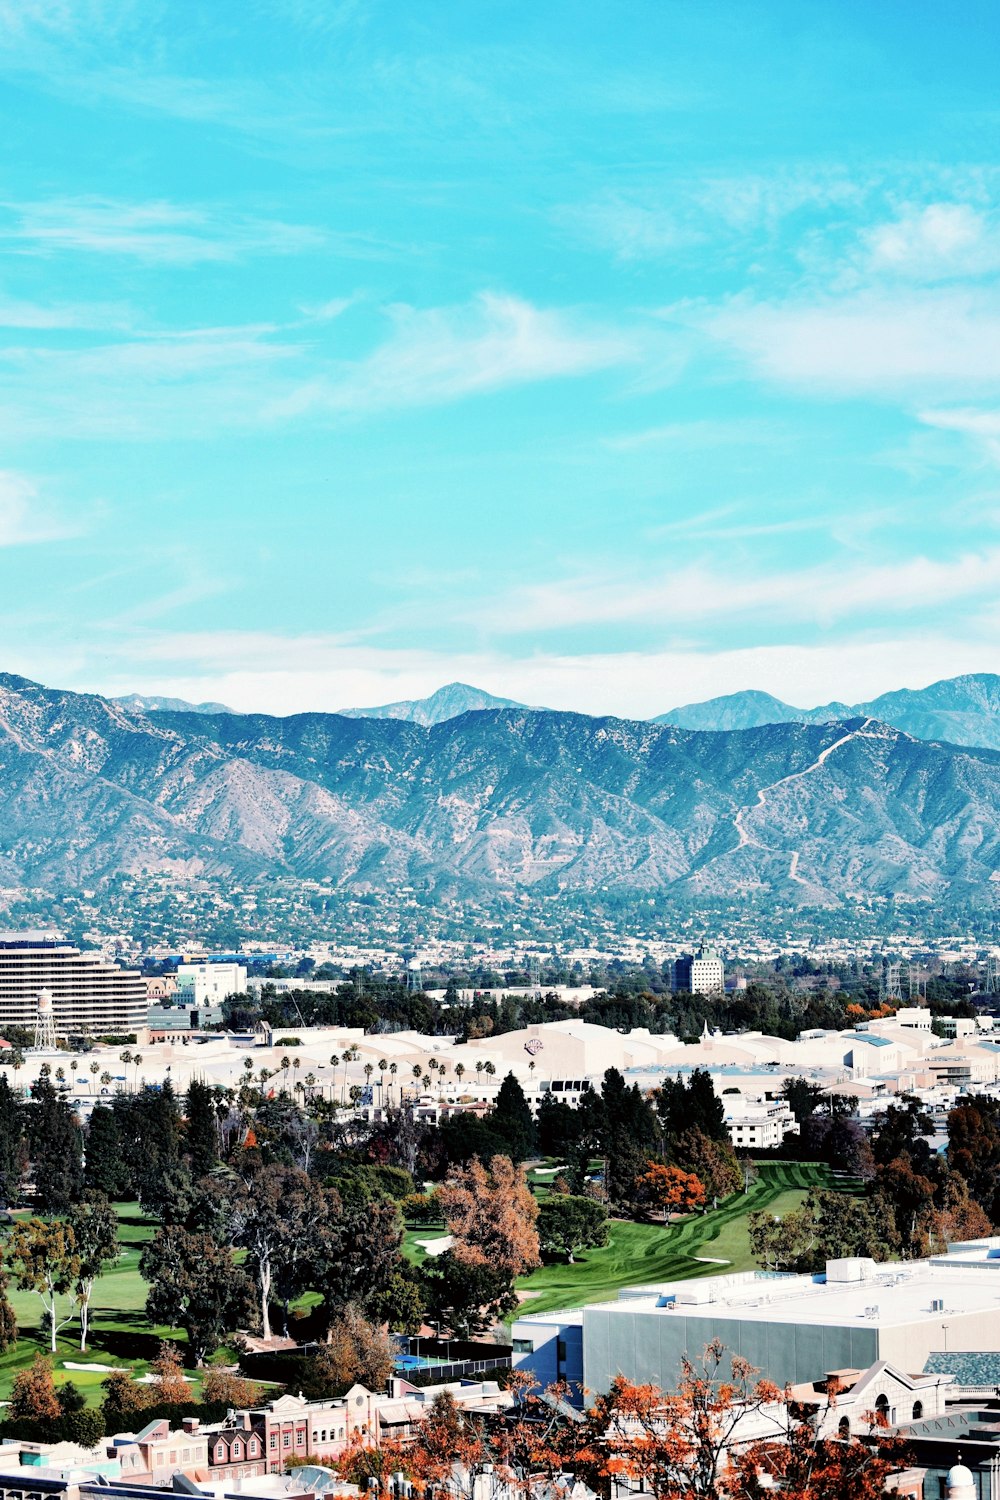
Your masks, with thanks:
M 0 1026 L 34 1029 L 39 994 L 52 999 L 55 1034 L 108 1036 L 145 1026 L 145 981 L 57 933 L 0 933 Z

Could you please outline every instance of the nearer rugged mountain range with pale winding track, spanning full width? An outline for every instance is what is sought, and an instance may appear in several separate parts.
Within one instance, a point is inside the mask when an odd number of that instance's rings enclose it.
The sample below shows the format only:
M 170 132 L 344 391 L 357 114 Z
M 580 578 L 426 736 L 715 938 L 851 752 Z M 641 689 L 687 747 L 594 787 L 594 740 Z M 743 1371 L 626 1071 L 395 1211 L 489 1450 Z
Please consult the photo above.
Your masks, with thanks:
M 147 712 L 0 675 L 0 884 L 328 878 L 456 897 L 1000 892 L 1000 754 L 868 716 L 721 732 Z

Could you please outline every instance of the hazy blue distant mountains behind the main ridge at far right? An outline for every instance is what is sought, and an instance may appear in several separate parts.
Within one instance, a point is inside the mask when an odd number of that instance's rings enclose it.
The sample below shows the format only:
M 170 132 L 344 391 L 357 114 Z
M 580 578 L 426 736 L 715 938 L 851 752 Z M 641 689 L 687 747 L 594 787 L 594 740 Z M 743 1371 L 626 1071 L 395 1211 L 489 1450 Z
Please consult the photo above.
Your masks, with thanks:
M 865 704 L 823 704 L 793 708 L 771 693 L 729 693 L 703 704 L 685 704 L 661 714 L 654 723 L 682 729 L 750 729 L 756 724 L 829 723 L 870 714 L 904 729 L 916 740 L 948 740 L 957 746 L 1000 750 L 1000 676 L 976 672 L 946 678 L 922 688 L 883 693 Z

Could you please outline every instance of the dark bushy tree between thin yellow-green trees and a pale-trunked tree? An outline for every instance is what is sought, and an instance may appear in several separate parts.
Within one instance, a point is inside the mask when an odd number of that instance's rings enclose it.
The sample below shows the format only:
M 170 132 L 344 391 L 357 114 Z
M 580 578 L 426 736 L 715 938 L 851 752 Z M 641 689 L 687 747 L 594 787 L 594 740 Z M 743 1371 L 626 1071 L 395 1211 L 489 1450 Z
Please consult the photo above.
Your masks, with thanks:
M 183 1328 L 196 1365 L 247 1320 L 250 1284 L 211 1234 L 166 1224 L 144 1246 L 139 1270 L 148 1282 L 147 1317 Z

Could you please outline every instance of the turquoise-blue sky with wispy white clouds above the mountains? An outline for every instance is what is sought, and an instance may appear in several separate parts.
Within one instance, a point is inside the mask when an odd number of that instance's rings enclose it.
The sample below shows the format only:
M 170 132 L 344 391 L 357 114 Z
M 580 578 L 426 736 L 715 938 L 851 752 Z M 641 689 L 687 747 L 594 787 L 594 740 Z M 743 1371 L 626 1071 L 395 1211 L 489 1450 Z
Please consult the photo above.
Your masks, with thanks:
M 0 70 L 1 668 L 999 669 L 994 4 L 0 0 Z

